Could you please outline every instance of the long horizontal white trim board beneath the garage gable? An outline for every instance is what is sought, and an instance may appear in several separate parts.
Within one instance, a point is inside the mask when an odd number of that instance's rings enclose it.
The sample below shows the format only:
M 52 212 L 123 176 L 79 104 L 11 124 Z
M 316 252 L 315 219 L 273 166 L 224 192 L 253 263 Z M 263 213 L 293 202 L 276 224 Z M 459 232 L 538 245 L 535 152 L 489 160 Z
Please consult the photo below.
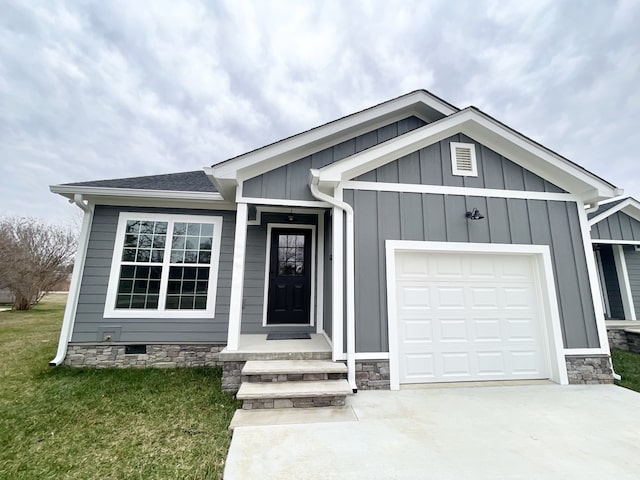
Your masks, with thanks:
M 342 182 L 342 187 L 345 190 L 370 190 L 377 192 L 434 193 L 437 195 L 517 198 L 523 200 L 555 200 L 560 202 L 577 201 L 575 195 L 572 195 L 570 193 L 499 190 L 493 188 L 449 187 L 443 185 L 423 185 L 418 183 L 361 182 L 351 180 Z

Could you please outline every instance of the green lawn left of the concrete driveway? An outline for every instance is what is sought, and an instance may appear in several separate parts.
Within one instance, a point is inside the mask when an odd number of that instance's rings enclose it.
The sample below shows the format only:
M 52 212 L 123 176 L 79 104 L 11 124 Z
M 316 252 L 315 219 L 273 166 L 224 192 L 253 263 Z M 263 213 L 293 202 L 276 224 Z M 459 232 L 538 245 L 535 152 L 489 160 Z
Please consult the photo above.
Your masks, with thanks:
M 51 368 L 64 300 L 0 312 L 0 479 L 220 478 L 220 369 Z

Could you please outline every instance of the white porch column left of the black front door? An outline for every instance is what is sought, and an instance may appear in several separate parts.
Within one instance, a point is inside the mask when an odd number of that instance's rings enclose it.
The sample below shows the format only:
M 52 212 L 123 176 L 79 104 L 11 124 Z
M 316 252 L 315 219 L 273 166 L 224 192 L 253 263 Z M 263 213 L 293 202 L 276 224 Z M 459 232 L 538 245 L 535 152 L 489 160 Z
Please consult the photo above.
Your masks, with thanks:
M 244 260 L 247 248 L 247 211 L 246 203 L 238 203 L 238 210 L 236 211 L 236 235 L 233 246 L 227 350 L 238 350 L 238 344 L 240 342 L 240 320 L 242 318 L 242 296 L 244 293 Z

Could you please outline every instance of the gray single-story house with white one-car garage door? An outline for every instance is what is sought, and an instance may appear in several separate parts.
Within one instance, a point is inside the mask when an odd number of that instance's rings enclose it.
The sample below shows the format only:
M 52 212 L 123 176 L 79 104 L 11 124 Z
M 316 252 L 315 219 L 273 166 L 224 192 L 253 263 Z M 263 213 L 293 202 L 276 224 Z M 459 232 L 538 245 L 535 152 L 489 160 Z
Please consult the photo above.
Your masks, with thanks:
M 220 362 L 247 408 L 612 379 L 585 207 L 621 191 L 474 107 L 415 91 L 200 171 L 51 190 L 85 211 L 54 365 Z

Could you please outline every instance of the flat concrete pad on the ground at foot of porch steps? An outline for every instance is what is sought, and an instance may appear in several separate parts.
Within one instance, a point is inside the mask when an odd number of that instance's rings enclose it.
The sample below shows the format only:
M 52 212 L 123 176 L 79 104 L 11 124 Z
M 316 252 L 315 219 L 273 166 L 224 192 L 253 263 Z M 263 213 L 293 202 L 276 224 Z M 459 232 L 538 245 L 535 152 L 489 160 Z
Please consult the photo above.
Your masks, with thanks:
M 353 409 L 347 407 L 267 408 L 236 410 L 229 430 L 266 425 L 300 425 L 306 423 L 357 422 Z

